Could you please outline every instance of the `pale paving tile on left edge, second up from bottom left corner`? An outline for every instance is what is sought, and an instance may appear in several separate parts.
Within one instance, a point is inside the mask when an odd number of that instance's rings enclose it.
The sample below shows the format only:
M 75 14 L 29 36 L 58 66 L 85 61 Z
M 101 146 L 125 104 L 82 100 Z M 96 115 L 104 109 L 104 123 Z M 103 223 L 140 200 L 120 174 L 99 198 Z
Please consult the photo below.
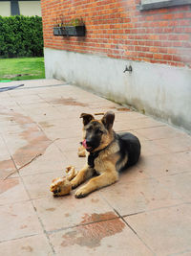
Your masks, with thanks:
M 30 201 L 0 206 L 0 242 L 42 233 Z

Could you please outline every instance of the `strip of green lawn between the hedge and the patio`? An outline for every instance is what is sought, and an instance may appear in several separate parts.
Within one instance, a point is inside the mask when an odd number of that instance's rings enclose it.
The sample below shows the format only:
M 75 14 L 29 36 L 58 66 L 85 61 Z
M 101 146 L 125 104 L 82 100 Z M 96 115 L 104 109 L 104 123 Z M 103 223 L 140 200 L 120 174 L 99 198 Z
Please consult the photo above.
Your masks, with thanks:
M 44 58 L 1 58 L 0 81 L 45 78 Z

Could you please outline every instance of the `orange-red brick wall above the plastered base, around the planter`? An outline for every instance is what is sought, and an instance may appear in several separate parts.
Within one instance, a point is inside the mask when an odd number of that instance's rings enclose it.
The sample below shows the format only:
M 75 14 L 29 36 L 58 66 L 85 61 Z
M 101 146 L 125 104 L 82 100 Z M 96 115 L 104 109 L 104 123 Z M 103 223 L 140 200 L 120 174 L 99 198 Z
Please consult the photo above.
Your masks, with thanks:
M 138 11 L 140 0 L 41 0 L 45 47 L 191 68 L 191 6 Z M 59 16 L 86 37 L 53 36 Z

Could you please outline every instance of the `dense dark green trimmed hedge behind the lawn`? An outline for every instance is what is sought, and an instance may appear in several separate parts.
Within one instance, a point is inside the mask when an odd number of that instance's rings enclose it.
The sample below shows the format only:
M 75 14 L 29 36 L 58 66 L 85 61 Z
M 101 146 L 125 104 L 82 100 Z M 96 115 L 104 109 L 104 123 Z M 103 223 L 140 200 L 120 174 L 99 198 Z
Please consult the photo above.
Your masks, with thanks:
M 39 16 L 0 16 L 0 56 L 42 57 L 42 18 Z

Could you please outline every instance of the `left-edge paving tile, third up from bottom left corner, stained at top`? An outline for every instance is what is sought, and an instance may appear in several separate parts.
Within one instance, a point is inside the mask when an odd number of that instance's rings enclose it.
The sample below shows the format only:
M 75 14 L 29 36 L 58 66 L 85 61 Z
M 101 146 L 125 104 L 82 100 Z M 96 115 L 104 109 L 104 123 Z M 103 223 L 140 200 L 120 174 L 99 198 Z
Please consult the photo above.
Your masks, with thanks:
M 0 205 L 28 199 L 21 178 L 0 179 Z

